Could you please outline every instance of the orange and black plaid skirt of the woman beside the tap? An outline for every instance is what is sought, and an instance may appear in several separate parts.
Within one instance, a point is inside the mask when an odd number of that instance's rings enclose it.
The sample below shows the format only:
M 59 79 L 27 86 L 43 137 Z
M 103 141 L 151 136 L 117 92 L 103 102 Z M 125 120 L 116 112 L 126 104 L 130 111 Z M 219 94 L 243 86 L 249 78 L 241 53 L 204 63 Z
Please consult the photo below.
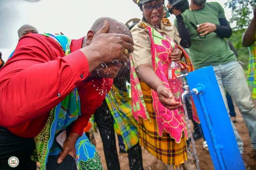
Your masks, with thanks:
M 141 89 L 150 119 L 143 120 L 139 117 L 138 133 L 140 145 L 165 164 L 179 166 L 187 161 L 187 141 L 182 134 L 180 143 L 177 143 L 169 133 L 163 132 L 160 137 L 156 122 L 156 113 L 153 108 L 151 89 L 141 82 Z

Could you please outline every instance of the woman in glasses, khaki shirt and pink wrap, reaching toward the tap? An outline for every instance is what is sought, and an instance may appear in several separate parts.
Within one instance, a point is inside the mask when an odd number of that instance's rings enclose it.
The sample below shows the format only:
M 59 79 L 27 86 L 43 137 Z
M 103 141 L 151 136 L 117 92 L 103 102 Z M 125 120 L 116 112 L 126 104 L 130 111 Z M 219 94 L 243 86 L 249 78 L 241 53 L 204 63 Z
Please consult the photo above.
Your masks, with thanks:
M 193 71 L 186 52 L 190 46 L 180 13 L 174 13 L 178 30 L 163 18 L 164 0 L 133 0 L 143 19 L 131 30 L 134 53 L 131 60 L 132 112 L 138 121 L 139 142 L 148 152 L 161 160 L 167 169 L 195 169 L 187 161 L 187 132 L 181 101 L 175 101 L 167 80 L 171 61 L 182 69 Z M 175 11 L 177 12 L 177 11 Z M 180 62 L 184 56 L 186 63 Z M 182 165 L 182 166 L 181 166 Z

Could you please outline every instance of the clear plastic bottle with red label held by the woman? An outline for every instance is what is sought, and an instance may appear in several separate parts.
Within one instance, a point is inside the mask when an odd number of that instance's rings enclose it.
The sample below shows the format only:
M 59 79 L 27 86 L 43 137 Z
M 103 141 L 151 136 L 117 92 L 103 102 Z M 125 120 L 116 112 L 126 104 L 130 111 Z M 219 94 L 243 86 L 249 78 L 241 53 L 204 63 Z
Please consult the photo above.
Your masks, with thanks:
M 177 79 L 181 75 L 181 67 L 177 62 L 172 61 L 168 67 L 168 82 L 176 101 L 181 100 L 182 80 Z

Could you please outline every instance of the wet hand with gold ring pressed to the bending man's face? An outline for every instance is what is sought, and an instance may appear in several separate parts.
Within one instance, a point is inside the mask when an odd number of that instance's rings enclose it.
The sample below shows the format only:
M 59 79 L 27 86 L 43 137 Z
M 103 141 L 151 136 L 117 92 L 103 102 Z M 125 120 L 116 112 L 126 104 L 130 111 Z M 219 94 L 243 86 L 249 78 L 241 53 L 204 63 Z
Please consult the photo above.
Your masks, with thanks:
M 106 34 L 108 30 L 109 24 L 105 20 L 89 46 L 101 56 L 101 63 L 110 63 L 115 60 L 127 63 L 130 53 L 134 50 L 132 38 L 124 34 Z

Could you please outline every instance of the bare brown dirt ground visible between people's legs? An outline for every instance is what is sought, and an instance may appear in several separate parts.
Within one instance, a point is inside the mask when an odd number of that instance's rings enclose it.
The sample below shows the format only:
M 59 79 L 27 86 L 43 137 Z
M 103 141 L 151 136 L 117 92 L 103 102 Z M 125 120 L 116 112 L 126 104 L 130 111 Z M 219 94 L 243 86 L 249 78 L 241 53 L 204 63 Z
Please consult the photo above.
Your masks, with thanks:
M 256 105 L 256 100 L 253 101 Z M 256 156 L 253 149 L 251 148 L 251 141 L 248 135 L 247 128 L 244 124 L 243 118 L 236 107 L 237 113 L 237 123 L 235 123 L 239 135 L 241 136 L 244 142 L 244 154 L 242 155 L 246 169 L 247 170 L 256 170 Z M 107 169 L 103 146 L 99 133 L 95 133 L 95 138 L 97 142 L 97 151 L 101 157 L 103 168 Z M 117 141 L 117 138 L 116 138 Z M 212 160 L 208 151 L 204 150 L 202 147 L 203 139 L 196 141 L 196 149 L 199 157 L 199 165 L 201 170 L 214 170 Z M 191 146 L 191 145 L 190 145 Z M 119 151 L 119 147 L 117 147 Z M 129 167 L 128 155 L 126 153 L 121 153 L 118 155 L 121 170 L 127 170 Z M 145 149 L 142 148 L 142 158 L 143 158 L 143 167 L 144 170 L 165 170 L 165 167 L 161 165 L 161 162 L 158 161 L 153 155 L 148 153 Z

